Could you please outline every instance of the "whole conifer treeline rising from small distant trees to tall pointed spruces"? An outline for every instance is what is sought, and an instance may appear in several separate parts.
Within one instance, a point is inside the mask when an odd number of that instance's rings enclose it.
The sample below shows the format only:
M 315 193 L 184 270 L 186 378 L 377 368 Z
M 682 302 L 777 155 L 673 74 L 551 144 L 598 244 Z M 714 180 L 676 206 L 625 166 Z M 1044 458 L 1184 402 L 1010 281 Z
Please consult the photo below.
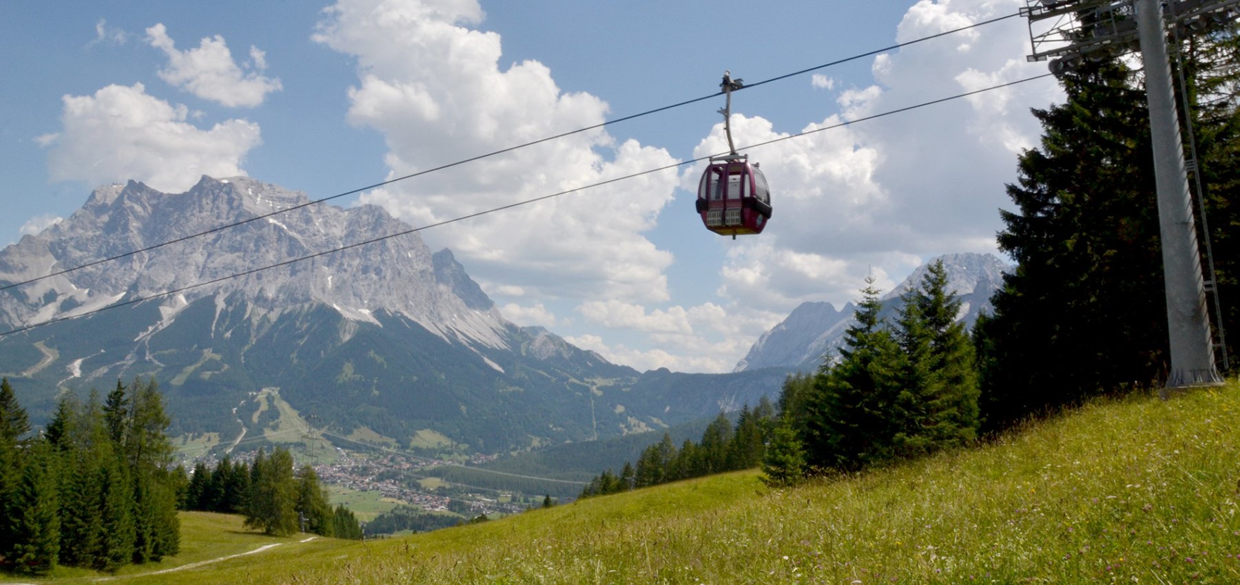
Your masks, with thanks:
M 665 434 L 636 467 L 603 472 L 582 497 L 759 464 L 768 482 L 790 485 L 810 472 L 856 471 L 976 439 L 973 342 L 956 321 L 960 300 L 947 292 L 942 263 L 931 264 L 904 295 L 894 323 L 879 319 L 873 279 L 862 295 L 839 359 L 813 376 L 789 377 L 777 415 L 765 399 L 742 410 L 735 429 L 720 414 L 699 444 L 684 441 L 680 450 Z

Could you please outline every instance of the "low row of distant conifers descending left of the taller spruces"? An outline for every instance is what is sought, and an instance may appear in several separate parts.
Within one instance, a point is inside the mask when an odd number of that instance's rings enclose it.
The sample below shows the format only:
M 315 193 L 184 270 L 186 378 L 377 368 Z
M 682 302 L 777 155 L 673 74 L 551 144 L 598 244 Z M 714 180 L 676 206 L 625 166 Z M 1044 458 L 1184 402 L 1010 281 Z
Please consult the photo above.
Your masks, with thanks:
M 663 433 L 662 441 L 641 452 L 636 466 L 625 462 L 620 475 L 604 471 L 585 486 L 580 497 L 755 467 L 761 462 L 764 445 L 774 428 L 775 408 L 763 397 L 758 408 L 750 410 L 746 404 L 740 410 L 735 428 L 725 414 L 719 413 L 702 433 L 701 442 L 686 439 L 677 449 L 671 434 Z

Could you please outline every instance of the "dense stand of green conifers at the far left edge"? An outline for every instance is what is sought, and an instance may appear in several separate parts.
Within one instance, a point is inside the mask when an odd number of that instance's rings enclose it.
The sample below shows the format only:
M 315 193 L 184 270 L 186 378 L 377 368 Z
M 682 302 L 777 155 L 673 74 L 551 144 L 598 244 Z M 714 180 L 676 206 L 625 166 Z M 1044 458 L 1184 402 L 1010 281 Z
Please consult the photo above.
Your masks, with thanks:
M 100 404 L 72 394 L 40 436 L 0 380 L 0 564 L 46 573 L 57 564 L 115 570 L 181 547 L 179 477 L 169 418 L 154 379 L 135 378 Z

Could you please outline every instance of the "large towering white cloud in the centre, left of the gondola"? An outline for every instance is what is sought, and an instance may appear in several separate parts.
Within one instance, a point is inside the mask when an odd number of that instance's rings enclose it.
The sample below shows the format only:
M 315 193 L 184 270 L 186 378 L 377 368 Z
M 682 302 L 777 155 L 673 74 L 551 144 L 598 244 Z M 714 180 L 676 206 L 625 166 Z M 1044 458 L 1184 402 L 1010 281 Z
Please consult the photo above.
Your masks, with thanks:
M 500 67 L 501 38 L 476 1 L 341 0 L 314 38 L 357 59 L 348 120 L 383 133 L 389 177 L 604 121 L 605 102 L 563 92 L 537 61 Z M 414 224 L 675 164 L 663 149 L 591 130 L 362 196 Z M 533 299 L 665 301 L 672 255 L 645 232 L 675 171 L 425 232 L 467 259 L 487 290 Z

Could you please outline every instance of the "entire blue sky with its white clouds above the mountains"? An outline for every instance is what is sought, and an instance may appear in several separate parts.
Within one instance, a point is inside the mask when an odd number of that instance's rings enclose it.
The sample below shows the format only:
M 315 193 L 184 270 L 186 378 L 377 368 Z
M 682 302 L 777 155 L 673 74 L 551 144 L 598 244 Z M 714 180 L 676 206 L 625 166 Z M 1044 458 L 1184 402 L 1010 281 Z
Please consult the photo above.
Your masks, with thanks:
M 1021 0 L 0 4 L 0 245 L 97 185 L 244 174 L 325 197 L 996 16 Z M 760 6 L 760 7 L 759 7 Z M 1008 19 L 734 98 L 750 144 L 1044 73 Z M 694 169 L 423 232 L 522 325 L 640 369 L 730 371 L 804 301 L 991 252 L 1040 79 L 755 149 L 775 213 L 711 234 Z M 414 224 L 722 149 L 722 98 L 335 203 Z M 699 169 L 699 167 L 696 167 Z

